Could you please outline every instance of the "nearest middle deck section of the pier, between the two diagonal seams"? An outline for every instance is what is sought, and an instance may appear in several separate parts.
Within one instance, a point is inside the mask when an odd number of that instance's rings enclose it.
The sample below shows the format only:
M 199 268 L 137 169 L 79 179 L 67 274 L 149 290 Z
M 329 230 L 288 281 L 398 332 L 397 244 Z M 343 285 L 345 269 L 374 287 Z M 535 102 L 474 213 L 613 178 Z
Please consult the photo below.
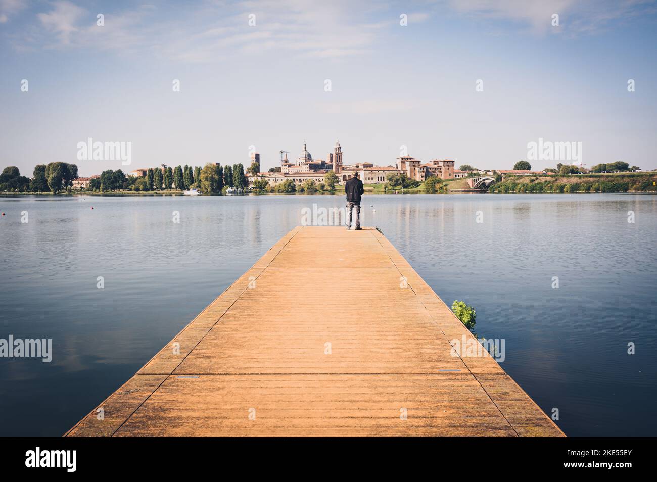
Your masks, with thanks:
M 171 376 L 117 435 L 193 426 L 194 435 L 515 435 L 466 374 Z

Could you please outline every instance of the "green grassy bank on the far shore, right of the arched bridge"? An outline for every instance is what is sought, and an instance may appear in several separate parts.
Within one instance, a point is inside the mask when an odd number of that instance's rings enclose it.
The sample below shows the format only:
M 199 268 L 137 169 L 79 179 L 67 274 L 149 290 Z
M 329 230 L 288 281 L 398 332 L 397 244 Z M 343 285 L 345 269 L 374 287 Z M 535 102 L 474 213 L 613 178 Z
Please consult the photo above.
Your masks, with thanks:
M 657 192 L 657 174 L 507 176 L 489 192 Z

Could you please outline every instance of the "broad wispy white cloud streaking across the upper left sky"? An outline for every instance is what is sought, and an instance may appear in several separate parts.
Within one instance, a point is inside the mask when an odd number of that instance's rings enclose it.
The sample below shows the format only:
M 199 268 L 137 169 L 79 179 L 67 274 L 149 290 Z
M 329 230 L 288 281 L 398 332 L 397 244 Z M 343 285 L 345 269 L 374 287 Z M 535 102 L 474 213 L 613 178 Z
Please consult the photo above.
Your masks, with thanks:
M 95 13 L 69 0 L 47 5 L 49 11 L 37 14 L 41 28 L 30 30 L 28 43 L 34 48 L 141 50 L 191 62 L 273 48 L 324 58 L 359 55 L 389 25 L 374 19 L 367 2 L 353 1 L 312 9 L 297 0 L 204 3 L 181 10 L 175 20 L 158 18 L 156 9 L 142 6 L 106 13 L 103 27 L 96 26 Z M 250 14 L 256 26 L 248 25 Z M 414 15 L 418 22 L 424 19 Z

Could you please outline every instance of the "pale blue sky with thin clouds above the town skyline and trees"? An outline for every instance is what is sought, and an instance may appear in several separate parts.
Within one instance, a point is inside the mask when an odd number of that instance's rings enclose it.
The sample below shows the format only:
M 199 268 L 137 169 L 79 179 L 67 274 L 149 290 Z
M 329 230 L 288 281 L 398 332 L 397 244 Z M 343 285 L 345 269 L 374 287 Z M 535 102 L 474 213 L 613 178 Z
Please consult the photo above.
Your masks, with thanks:
M 344 164 L 511 169 L 543 139 L 654 169 L 656 40 L 639 0 L 0 0 L 0 168 L 246 167 L 254 149 L 266 171 L 339 139 Z M 131 164 L 79 160 L 89 138 L 130 142 Z

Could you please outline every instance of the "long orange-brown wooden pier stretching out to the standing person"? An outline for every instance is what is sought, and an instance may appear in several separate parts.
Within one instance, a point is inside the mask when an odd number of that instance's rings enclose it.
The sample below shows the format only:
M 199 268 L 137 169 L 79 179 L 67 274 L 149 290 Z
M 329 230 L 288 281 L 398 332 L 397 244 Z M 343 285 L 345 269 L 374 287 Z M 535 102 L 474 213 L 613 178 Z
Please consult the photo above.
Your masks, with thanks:
M 377 230 L 297 227 L 66 436 L 564 436 L 462 336 Z

